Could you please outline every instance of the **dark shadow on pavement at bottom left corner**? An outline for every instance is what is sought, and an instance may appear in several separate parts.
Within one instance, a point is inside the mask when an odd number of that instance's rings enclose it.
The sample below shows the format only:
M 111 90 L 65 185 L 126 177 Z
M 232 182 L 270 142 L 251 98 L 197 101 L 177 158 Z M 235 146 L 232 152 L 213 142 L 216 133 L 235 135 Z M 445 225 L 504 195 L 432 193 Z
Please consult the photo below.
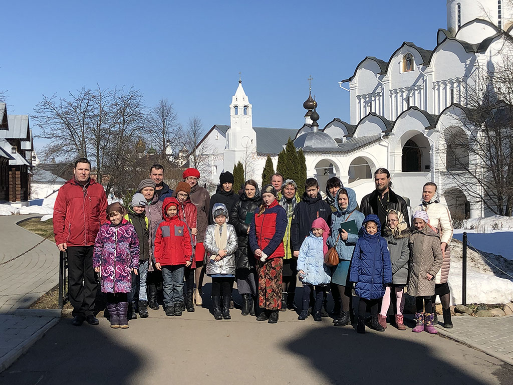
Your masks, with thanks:
M 130 377 L 141 369 L 144 360 L 114 340 L 115 334 L 123 333 L 129 332 L 88 324 L 76 327 L 70 318 L 62 319 L 28 354 L 0 373 L 0 384 L 133 383 Z

